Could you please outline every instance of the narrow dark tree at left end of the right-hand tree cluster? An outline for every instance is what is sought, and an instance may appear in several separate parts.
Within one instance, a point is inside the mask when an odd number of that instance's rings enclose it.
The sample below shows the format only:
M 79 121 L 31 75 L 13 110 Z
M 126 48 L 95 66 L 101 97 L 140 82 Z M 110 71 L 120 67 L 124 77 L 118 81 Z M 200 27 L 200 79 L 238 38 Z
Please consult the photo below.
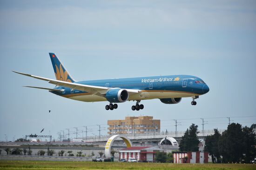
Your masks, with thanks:
M 214 129 L 214 135 L 207 136 L 205 139 L 204 151 L 209 152 L 212 157 L 212 163 L 221 163 L 221 157 L 218 150 L 218 142 L 221 137 L 218 129 Z

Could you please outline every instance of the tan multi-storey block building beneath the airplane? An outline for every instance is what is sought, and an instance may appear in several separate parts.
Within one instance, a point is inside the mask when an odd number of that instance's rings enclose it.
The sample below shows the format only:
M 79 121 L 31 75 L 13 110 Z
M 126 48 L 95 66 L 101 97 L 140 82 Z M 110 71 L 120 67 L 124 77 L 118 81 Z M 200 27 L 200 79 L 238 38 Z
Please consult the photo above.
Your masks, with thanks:
M 108 120 L 108 134 L 143 134 L 160 132 L 160 120 L 153 116 L 125 117 L 124 120 Z

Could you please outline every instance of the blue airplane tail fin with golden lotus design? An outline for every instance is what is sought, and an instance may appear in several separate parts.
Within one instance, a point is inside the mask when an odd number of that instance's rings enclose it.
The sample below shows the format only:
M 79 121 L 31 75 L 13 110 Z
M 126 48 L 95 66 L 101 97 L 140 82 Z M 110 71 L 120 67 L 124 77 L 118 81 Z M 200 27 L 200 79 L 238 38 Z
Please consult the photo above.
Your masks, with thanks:
M 67 69 L 62 65 L 61 61 L 58 59 L 56 54 L 49 52 L 53 67 L 54 73 L 57 80 L 67 81 L 74 83 L 75 80 L 72 76 L 67 72 Z

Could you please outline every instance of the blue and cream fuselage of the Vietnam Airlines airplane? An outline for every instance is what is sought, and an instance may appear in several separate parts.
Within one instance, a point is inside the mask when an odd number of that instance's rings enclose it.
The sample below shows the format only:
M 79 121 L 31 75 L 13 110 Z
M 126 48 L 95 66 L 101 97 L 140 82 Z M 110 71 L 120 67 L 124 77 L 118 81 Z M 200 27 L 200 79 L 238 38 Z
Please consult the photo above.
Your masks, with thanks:
M 130 96 L 128 100 L 184 98 L 199 96 L 209 92 L 208 85 L 206 85 L 201 78 L 189 75 L 115 78 L 105 80 L 78 81 L 75 83 L 120 89 L 136 89 L 142 91 L 142 95 Z M 88 92 L 75 89 L 73 90 L 64 86 L 57 86 L 55 89 L 64 89 L 64 92 L 53 93 L 66 98 L 87 102 L 106 101 L 106 98 L 95 96 Z

